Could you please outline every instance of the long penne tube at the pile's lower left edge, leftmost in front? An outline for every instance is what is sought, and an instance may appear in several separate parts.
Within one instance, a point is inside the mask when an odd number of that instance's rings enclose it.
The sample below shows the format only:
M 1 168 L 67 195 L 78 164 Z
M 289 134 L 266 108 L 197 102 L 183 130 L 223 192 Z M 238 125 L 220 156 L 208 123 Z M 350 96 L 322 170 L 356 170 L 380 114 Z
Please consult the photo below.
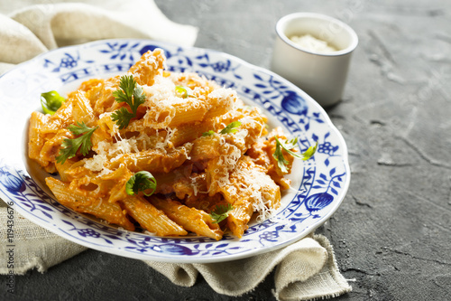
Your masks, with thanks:
M 99 219 L 123 227 L 125 230 L 134 230 L 133 223 L 127 219 L 118 203 L 90 197 L 90 192 L 70 189 L 69 183 L 63 183 L 51 177 L 46 178 L 45 182 L 60 204 L 76 212 L 92 214 Z

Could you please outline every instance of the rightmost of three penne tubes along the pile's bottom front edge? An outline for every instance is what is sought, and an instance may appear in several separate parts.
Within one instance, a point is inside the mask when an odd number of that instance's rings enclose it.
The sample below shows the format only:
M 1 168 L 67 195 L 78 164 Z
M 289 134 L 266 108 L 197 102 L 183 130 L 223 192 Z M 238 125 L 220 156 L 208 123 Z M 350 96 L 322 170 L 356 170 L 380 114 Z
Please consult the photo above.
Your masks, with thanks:
M 156 196 L 152 196 L 150 200 L 155 207 L 163 211 L 183 229 L 214 240 L 222 239 L 223 231 L 217 223 L 214 223 L 207 212 L 189 208 L 177 201 L 163 200 Z

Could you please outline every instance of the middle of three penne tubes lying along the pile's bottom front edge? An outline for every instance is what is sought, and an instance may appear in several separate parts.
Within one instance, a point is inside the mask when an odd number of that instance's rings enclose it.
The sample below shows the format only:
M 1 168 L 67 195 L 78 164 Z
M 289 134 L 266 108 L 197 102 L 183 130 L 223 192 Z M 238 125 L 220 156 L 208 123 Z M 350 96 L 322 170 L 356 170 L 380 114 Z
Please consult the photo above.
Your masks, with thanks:
M 176 222 L 155 208 L 141 196 L 129 196 L 121 201 L 124 208 L 135 221 L 145 229 L 158 236 L 179 236 L 188 234 Z

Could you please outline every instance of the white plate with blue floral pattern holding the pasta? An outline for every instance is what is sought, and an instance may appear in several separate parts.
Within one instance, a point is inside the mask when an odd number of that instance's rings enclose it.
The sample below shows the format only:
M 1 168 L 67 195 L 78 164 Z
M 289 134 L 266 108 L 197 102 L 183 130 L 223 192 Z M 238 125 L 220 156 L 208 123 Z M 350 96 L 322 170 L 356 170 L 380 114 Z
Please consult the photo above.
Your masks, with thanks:
M 235 89 L 250 106 L 261 107 L 271 127 L 299 137 L 304 151 L 318 141 L 317 154 L 296 160 L 292 189 L 267 221 L 252 221 L 241 240 L 226 235 L 155 237 L 118 230 L 73 212 L 55 201 L 44 183 L 49 176 L 27 159 L 28 118 L 40 109 L 40 94 L 77 89 L 91 78 L 122 74 L 143 52 L 162 48 L 169 71 L 196 71 Z M 280 76 L 231 55 L 149 40 L 107 40 L 60 48 L 24 62 L 0 78 L 0 197 L 27 219 L 88 248 L 133 259 L 216 262 L 279 249 L 306 236 L 336 211 L 345 198 L 350 171 L 345 140 L 326 112 L 305 92 Z

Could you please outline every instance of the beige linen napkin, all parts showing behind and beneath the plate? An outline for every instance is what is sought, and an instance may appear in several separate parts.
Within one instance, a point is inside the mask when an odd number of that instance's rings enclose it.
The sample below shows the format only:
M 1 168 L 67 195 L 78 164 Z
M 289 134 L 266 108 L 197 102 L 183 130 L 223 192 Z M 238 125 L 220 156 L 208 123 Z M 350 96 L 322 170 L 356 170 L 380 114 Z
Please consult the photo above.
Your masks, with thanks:
M 40 2 L 41 4 L 36 5 Z M 150 38 L 193 45 L 198 29 L 170 22 L 152 0 L 48 0 L 0 2 L 0 74 L 14 64 L 64 45 L 106 38 Z M 7 206 L 0 200 L 0 274 L 7 274 Z M 14 212 L 14 273 L 44 272 L 85 250 L 42 229 Z M 184 287 L 200 273 L 219 294 L 240 296 L 252 291 L 276 268 L 274 296 L 308 300 L 344 294 L 352 288 L 340 274 L 324 236 L 299 240 L 284 249 L 226 263 L 170 264 L 145 261 Z

